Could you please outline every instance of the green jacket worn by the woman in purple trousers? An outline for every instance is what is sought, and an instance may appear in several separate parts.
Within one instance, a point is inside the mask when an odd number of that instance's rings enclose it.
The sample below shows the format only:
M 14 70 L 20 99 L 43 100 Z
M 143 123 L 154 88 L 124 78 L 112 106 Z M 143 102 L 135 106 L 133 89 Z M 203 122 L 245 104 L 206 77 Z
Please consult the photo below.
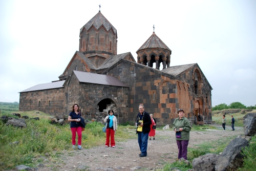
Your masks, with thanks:
M 191 130 L 191 126 L 189 120 L 185 117 L 181 119 L 176 118 L 174 121 L 174 130 L 179 130 L 182 127 L 183 131 L 181 131 L 181 138 L 176 138 L 176 140 L 189 140 L 189 131 Z

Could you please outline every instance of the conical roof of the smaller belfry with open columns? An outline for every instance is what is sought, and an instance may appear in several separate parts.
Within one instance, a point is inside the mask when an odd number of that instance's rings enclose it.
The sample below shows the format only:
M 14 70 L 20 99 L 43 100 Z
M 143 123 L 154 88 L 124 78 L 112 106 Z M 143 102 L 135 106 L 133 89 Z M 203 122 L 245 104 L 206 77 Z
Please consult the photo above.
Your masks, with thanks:
M 140 49 L 138 49 L 136 51 L 139 52 L 142 49 L 148 49 L 148 48 L 161 48 L 161 49 L 165 49 L 168 50 L 170 52 L 172 52 L 165 44 L 164 42 L 155 34 L 155 32 L 153 32 L 153 34 L 150 36 L 150 38 L 148 38 L 144 44 L 140 47 Z

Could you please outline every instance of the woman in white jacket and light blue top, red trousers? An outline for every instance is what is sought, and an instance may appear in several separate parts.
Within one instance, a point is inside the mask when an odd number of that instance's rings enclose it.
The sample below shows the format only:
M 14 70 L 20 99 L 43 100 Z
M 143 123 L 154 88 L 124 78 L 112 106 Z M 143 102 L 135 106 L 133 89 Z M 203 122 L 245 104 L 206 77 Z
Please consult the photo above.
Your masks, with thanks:
M 109 116 L 105 117 L 104 122 L 107 122 L 105 147 L 109 147 L 109 145 L 111 145 L 114 148 L 115 147 L 115 131 L 117 130 L 117 119 L 114 116 L 113 110 L 109 110 Z

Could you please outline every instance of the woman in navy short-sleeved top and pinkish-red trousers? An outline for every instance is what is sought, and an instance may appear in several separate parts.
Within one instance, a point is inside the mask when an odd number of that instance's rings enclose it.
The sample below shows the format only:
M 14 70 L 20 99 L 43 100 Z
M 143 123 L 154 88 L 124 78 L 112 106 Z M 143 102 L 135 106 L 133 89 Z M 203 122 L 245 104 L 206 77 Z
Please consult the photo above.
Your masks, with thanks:
M 78 142 L 77 142 L 77 147 L 78 149 L 82 149 L 81 143 L 82 143 L 82 125 L 81 125 L 81 113 L 79 111 L 79 106 L 78 104 L 74 104 L 72 106 L 72 111 L 69 114 L 68 121 L 70 121 L 70 129 L 72 133 L 72 144 L 73 148 L 76 148 L 76 133 L 78 136 Z

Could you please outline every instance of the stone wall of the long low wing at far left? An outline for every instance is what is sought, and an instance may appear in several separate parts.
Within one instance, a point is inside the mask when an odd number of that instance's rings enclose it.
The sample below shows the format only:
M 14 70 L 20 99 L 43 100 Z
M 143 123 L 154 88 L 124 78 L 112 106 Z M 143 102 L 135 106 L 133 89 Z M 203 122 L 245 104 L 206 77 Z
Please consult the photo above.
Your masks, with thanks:
M 48 114 L 65 114 L 64 106 L 64 88 L 24 92 L 19 95 L 19 111 L 38 110 Z

